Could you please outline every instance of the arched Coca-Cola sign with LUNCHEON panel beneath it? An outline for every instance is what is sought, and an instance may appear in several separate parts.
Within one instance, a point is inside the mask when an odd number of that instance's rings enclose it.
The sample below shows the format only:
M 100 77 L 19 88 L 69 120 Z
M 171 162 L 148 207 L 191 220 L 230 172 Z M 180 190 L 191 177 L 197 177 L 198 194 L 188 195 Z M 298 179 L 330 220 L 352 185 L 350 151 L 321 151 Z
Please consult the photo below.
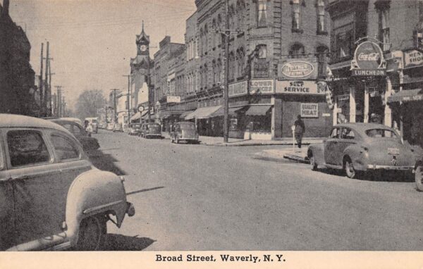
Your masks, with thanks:
M 353 76 L 386 75 L 386 62 L 381 47 L 370 41 L 358 44 L 351 61 L 351 73 Z

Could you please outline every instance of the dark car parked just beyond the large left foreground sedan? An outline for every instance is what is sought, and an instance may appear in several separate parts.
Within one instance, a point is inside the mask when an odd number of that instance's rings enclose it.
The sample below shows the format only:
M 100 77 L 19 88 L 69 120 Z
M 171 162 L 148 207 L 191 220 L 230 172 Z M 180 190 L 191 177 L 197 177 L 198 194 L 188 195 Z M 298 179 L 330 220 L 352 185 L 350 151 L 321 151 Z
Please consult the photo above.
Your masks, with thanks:
M 71 134 L 75 135 L 76 139 L 82 144 L 82 148 L 85 152 L 89 153 L 99 149 L 100 145 L 96 138 L 91 137 L 91 134 L 84 130 L 82 125 L 78 122 L 68 118 L 56 118 L 49 120 L 53 123 L 57 123 L 66 128 Z

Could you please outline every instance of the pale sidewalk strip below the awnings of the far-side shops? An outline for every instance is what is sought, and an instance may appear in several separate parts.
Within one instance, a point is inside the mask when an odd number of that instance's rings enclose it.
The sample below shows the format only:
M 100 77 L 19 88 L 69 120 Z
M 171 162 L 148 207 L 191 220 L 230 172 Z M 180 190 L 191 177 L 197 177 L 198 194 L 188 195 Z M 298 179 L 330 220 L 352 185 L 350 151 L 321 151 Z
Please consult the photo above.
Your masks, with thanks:
M 168 132 L 163 132 L 165 139 L 170 139 Z M 302 139 L 303 145 L 321 143 L 321 137 L 305 137 Z M 245 140 L 238 138 L 229 138 L 228 143 L 223 142 L 223 137 L 204 137 L 200 136 L 200 144 L 206 146 L 273 146 L 273 145 L 291 145 L 293 144 L 292 138 L 282 138 L 277 140 Z M 291 149 L 292 151 L 292 149 Z

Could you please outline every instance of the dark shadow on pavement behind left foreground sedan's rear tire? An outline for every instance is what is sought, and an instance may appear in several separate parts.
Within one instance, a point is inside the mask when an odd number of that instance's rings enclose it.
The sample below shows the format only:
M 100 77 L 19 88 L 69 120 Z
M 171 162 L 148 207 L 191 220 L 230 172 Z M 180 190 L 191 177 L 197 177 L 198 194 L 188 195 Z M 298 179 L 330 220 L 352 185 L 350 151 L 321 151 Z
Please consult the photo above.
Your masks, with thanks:
M 122 234 L 105 234 L 101 251 L 140 251 L 155 241 L 148 237 L 128 237 Z

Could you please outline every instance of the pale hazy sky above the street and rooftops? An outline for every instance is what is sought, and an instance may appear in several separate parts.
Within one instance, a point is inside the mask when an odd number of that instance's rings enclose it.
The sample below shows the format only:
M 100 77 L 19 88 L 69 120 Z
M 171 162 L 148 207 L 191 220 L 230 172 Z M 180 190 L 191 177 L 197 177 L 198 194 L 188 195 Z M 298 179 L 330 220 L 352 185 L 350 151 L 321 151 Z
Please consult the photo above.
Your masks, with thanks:
M 0 0 L 1 1 L 1 0 Z M 85 89 L 127 89 L 135 35 L 150 36 L 153 56 L 166 35 L 184 43 L 194 0 L 10 0 L 12 19 L 26 29 L 31 64 L 39 75 L 41 43 L 50 43 L 52 85 L 61 85 L 73 108 Z M 44 44 L 44 56 L 45 56 Z M 56 88 L 53 88 L 54 92 Z

